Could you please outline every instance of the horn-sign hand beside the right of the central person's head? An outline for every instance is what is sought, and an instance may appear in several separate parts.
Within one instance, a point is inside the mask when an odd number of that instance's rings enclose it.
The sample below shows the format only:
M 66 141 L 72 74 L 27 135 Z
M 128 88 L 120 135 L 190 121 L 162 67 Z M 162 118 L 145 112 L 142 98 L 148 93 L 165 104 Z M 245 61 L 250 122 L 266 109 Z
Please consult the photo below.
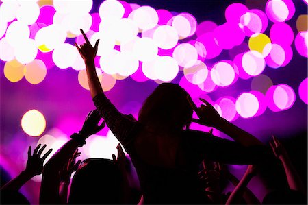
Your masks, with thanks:
M 216 127 L 216 125 L 220 123 L 222 117 L 220 117 L 215 108 L 211 106 L 211 104 L 209 104 L 205 99 L 199 98 L 205 104 L 202 104 L 200 108 L 194 104 L 194 101 L 192 101 L 192 98 L 189 95 L 187 99 L 190 103 L 190 106 L 192 106 L 192 109 L 199 117 L 199 119 L 192 119 L 193 122 L 209 127 Z

